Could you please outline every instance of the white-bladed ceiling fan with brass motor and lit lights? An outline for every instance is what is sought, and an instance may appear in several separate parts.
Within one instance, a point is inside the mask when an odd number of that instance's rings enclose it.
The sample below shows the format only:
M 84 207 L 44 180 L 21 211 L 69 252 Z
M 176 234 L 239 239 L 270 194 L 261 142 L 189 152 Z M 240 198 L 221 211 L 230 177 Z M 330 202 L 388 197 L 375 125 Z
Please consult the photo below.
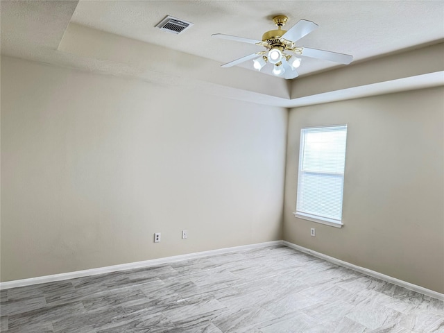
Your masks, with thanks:
M 287 21 L 288 17 L 285 15 L 273 17 L 273 22 L 275 22 L 275 25 L 278 26 L 278 30 L 271 30 L 264 33 L 264 35 L 262 35 L 262 41 L 232 35 L 224 35 L 223 33 L 213 34 L 212 37 L 222 38 L 224 40 L 236 40 L 237 42 L 248 44 L 256 44 L 266 48 L 265 51 L 252 53 L 248 56 L 228 62 L 221 67 L 232 67 L 240 64 L 241 62 L 253 59 L 253 67 L 258 71 L 260 71 L 269 62 L 273 65 L 272 73 L 275 76 L 292 79 L 298 76 L 296 68 L 299 67 L 300 62 L 302 61 L 302 59 L 298 58 L 298 56 L 330 60 L 344 65 L 348 65 L 350 62 L 352 62 L 353 56 L 348 54 L 296 46 L 296 42 L 298 40 L 311 33 L 311 31 L 314 31 L 318 25 L 314 22 L 301 19 L 298 23 L 289 28 L 288 31 L 282 30 L 282 26 L 284 26 Z

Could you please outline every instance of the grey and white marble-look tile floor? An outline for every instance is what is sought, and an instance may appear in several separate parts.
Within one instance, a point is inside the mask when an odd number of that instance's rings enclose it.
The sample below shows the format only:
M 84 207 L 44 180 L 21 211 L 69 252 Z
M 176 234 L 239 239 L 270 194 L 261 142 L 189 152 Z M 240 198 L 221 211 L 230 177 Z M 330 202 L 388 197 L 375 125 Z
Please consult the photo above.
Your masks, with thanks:
M 1 332 L 444 332 L 444 302 L 271 246 L 1 291 Z

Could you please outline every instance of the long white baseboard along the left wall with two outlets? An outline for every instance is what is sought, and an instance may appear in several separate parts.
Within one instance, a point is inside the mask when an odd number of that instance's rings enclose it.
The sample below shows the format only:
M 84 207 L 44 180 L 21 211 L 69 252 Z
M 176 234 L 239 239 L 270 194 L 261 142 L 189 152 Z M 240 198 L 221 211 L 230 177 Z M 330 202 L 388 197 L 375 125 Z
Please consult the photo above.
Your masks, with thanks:
M 83 277 L 89 276 L 89 275 L 98 275 L 98 274 L 111 273 L 111 272 L 116 272 L 116 271 L 126 271 L 127 269 L 144 268 L 144 267 L 149 267 L 149 266 L 166 264 L 169 262 L 180 262 L 182 260 L 196 259 L 196 258 L 200 258 L 200 257 L 208 257 L 210 255 L 221 255 L 223 253 L 232 253 L 232 252 L 237 252 L 237 251 L 242 251 L 242 250 L 251 250 L 253 248 L 264 248 L 267 246 L 275 246 L 275 245 L 282 245 L 282 241 L 266 241 L 264 243 L 250 244 L 250 245 L 244 245 L 244 246 L 234 246 L 232 248 L 219 248 L 217 250 L 208 250 L 208 251 L 197 252 L 197 253 L 189 253 L 187 255 L 175 255 L 173 257 L 164 257 L 164 258 L 159 258 L 159 259 L 145 260 L 143 262 L 131 262 L 129 264 L 120 264 L 120 265 L 114 265 L 114 266 L 85 269 L 84 271 L 75 271 L 75 272 L 60 273 L 60 274 L 53 274 L 53 275 L 44 275 L 44 276 L 39 276 L 37 278 L 0 282 L 0 290 L 1 289 L 17 288 L 17 287 L 25 287 L 25 286 L 30 286 L 32 284 L 42 284 L 42 283 L 46 283 L 46 282 L 55 282 L 55 281 L 69 280 L 69 279 L 74 279 L 74 278 L 83 278 Z

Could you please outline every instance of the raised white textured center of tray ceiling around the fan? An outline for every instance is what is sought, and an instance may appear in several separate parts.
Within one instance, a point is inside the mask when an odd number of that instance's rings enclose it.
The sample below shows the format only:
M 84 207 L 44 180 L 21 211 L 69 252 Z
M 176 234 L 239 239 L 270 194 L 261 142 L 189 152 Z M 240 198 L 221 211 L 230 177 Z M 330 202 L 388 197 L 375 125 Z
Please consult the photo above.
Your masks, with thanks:
M 348 53 L 357 61 L 443 38 L 443 8 L 442 1 L 80 1 L 72 21 L 225 63 L 262 48 L 214 40 L 212 33 L 262 40 L 276 28 L 271 18 L 284 14 L 284 28 L 300 19 L 318 24 L 301 46 Z M 155 24 L 166 15 L 194 26 L 181 35 L 164 33 Z M 334 66 L 304 58 L 299 72 Z

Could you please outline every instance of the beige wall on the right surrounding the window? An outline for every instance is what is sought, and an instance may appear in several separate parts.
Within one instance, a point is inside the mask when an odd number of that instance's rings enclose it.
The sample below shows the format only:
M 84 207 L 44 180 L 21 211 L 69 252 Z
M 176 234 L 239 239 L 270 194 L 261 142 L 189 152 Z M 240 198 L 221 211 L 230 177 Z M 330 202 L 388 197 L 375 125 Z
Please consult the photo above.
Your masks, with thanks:
M 444 293 L 443 92 L 437 87 L 291 110 L 284 239 Z M 342 123 L 348 124 L 344 226 L 296 219 L 300 128 Z

